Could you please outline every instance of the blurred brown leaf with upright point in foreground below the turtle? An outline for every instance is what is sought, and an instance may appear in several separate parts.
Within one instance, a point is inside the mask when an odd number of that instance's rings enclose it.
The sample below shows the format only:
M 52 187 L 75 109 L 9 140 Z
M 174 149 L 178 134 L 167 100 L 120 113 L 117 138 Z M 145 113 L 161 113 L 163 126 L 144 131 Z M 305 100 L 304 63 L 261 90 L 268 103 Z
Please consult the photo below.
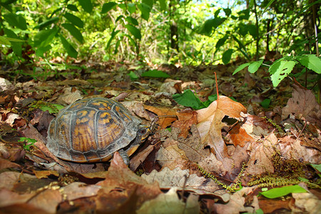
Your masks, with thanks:
M 94 199 L 98 213 L 135 213 L 146 200 L 163 194 L 157 183 L 149 184 L 133 173 L 118 152 L 113 156 L 106 179 L 96 185 L 101 186 Z

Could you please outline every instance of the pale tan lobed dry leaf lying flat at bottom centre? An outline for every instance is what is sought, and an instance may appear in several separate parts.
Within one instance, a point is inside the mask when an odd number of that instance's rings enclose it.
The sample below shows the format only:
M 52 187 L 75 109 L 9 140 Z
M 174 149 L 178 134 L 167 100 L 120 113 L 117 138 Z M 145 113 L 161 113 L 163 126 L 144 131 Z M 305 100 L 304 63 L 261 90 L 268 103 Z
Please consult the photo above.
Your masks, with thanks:
M 151 171 L 149 175 L 142 175 L 148 183 L 158 182 L 162 189 L 178 188 L 196 193 L 198 195 L 212 195 L 220 198 L 223 202 L 228 202 L 230 194 L 222 190 L 220 185 L 210 178 L 198 177 L 196 174 L 189 174 L 188 170 L 182 170 L 179 167 L 170 170 L 168 167 L 163 168 L 160 172 Z

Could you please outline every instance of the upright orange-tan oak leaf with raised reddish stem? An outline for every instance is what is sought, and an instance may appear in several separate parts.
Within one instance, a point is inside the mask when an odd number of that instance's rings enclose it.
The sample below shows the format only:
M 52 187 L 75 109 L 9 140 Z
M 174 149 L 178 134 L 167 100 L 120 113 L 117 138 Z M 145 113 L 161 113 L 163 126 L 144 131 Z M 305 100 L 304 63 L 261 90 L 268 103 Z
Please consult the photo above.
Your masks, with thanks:
M 226 126 L 222 122 L 225 116 L 230 118 L 240 118 L 240 113 L 246 113 L 246 108 L 238 102 L 226 96 L 220 96 L 218 100 L 197 111 L 198 113 L 198 132 L 204 146 L 208 145 L 215 150 L 218 161 L 228 157 L 228 150 L 222 138 L 221 129 Z

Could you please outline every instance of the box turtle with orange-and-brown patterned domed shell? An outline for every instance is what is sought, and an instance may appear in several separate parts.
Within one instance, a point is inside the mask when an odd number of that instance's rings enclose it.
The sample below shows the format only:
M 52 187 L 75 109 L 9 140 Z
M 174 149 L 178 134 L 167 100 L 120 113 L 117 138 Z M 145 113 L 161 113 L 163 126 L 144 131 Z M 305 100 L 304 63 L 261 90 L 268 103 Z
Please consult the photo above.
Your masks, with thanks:
M 118 151 L 128 165 L 128 156 L 150 132 L 121 103 L 84 98 L 51 121 L 46 146 L 58 158 L 76 163 L 108 161 Z

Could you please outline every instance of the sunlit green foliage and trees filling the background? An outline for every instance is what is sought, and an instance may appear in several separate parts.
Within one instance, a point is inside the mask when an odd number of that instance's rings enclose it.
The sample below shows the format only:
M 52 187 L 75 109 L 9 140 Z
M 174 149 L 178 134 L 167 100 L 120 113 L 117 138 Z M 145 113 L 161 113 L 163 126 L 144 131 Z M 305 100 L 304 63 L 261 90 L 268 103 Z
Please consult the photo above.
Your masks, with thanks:
M 312 9 L 320 24 L 320 0 L 230 2 L 1 0 L 1 60 L 198 65 L 316 53 Z

